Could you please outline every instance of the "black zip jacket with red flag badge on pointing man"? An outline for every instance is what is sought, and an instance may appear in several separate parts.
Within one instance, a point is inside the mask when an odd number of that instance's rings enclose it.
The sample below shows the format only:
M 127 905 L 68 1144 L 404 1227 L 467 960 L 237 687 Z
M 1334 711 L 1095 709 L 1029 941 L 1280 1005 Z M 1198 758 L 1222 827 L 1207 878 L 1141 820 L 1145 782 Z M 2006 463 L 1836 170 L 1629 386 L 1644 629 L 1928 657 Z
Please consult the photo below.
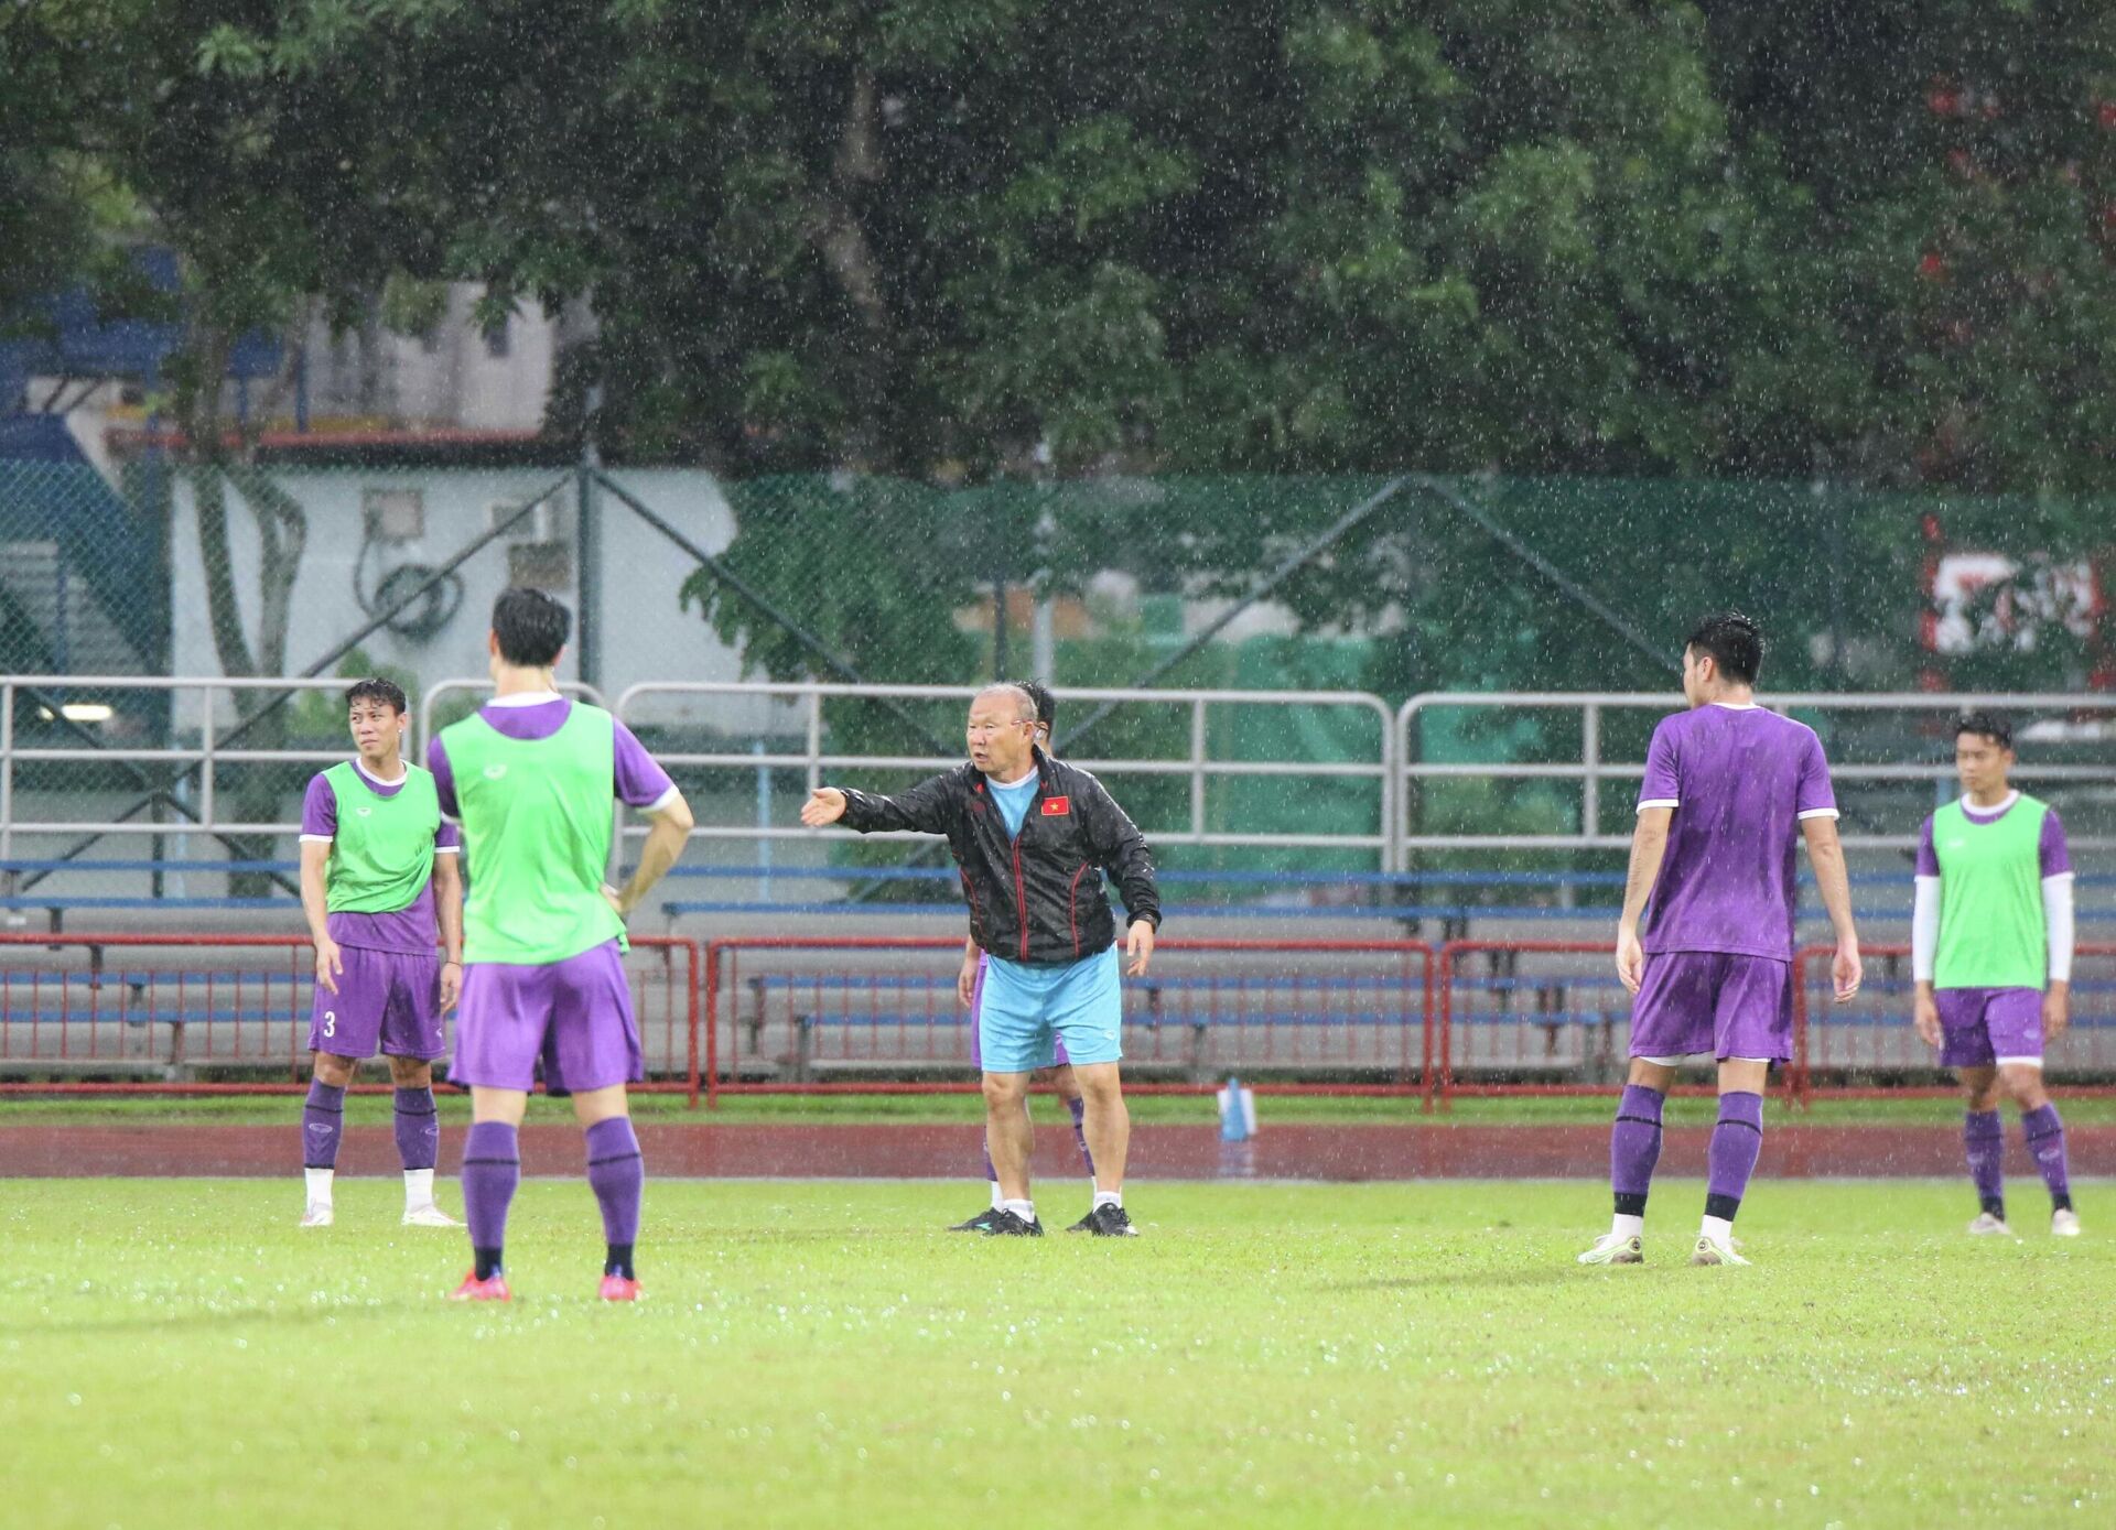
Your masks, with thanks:
M 1090 876 L 1094 868 L 1117 878 L 1132 918 L 1160 929 L 1153 851 L 1138 825 L 1086 770 L 1041 749 L 1035 758 L 1037 798 L 1011 840 L 973 764 L 920 781 L 899 798 L 840 787 L 842 821 L 861 834 L 946 834 L 969 899 L 971 940 L 995 957 L 1056 967 L 1107 950 L 1117 940 L 1117 921 L 1102 878 Z

